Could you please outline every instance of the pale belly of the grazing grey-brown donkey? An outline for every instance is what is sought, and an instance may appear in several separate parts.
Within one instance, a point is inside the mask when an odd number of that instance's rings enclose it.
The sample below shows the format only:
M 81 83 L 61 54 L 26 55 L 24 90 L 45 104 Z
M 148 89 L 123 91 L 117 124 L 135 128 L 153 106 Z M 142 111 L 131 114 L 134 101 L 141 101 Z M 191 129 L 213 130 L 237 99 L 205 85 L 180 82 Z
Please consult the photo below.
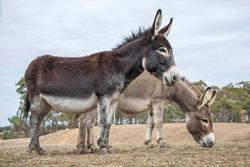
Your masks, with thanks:
M 150 105 L 150 99 L 121 98 L 119 99 L 118 110 L 128 114 L 137 114 L 148 110 Z

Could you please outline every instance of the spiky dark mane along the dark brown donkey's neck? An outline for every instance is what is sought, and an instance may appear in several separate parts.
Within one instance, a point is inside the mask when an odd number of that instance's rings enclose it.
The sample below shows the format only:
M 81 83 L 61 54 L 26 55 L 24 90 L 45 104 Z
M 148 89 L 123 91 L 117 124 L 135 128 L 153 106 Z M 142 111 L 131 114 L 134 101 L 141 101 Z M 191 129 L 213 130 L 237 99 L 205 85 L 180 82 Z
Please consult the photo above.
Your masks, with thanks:
M 127 43 L 134 41 L 140 37 L 143 37 L 144 35 L 147 35 L 150 31 L 149 28 L 139 27 L 136 32 L 131 31 L 130 36 L 124 36 L 121 44 L 118 44 L 115 49 L 121 48 L 123 45 L 126 45 Z

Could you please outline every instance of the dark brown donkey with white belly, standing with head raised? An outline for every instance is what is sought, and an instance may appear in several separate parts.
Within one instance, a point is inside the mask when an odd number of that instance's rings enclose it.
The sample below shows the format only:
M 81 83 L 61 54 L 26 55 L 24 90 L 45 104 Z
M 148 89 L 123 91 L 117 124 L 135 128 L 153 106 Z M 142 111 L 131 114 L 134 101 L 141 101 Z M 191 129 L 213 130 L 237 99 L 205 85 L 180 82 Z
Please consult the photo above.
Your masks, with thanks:
M 133 34 L 112 51 L 84 57 L 41 56 L 25 72 L 27 100 L 31 111 L 29 150 L 45 151 L 39 144 L 39 126 L 51 109 L 79 114 L 97 107 L 100 151 L 109 152 L 109 129 L 117 99 L 144 70 L 172 86 L 178 80 L 172 47 L 166 36 L 170 23 L 160 29 L 161 10 L 151 28 Z M 97 104 L 97 106 L 96 106 Z

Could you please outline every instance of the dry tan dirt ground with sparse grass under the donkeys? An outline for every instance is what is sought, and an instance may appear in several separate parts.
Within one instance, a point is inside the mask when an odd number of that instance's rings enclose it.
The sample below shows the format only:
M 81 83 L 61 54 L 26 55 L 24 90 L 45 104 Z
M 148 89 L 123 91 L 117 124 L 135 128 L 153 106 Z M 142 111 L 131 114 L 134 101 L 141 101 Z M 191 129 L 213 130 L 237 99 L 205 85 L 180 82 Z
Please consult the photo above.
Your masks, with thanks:
M 77 129 L 40 137 L 46 155 L 28 153 L 29 138 L 0 140 L 1 166 L 250 166 L 250 124 L 217 123 L 216 145 L 201 148 L 185 124 L 165 124 L 165 148 L 146 149 L 145 125 L 114 125 L 111 144 L 115 154 L 79 154 Z M 98 127 L 95 127 L 95 136 Z

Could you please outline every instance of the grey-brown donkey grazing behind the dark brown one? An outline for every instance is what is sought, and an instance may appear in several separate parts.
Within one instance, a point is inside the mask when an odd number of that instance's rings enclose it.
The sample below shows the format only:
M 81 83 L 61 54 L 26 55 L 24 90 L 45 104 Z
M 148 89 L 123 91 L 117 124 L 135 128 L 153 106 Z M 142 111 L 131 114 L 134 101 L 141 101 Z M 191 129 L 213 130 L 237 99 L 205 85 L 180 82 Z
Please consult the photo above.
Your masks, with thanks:
M 187 129 L 193 138 L 202 147 L 212 147 L 215 143 L 215 136 L 210 105 L 216 97 L 216 92 L 214 89 L 207 88 L 198 98 L 198 94 L 187 82 L 181 80 L 174 86 L 168 87 L 148 72 L 144 72 L 125 89 L 124 94 L 118 100 L 117 109 L 128 115 L 148 111 L 145 144 L 147 147 L 152 147 L 152 130 L 156 127 L 157 143 L 161 147 L 165 143 L 162 135 L 164 105 L 168 100 L 174 101 L 186 112 Z M 82 149 L 82 153 L 88 152 L 88 149 L 93 151 L 95 148 L 93 125 L 96 112 L 94 110 L 80 117 L 77 147 Z M 86 130 L 87 147 L 85 147 Z

